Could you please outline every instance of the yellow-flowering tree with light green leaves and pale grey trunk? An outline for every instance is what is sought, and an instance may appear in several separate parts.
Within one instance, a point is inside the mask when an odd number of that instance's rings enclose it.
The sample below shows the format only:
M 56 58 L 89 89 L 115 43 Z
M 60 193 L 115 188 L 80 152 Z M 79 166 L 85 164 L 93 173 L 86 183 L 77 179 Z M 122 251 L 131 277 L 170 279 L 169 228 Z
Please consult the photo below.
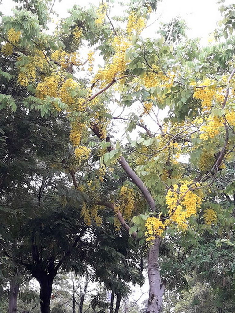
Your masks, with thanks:
M 107 3 L 97 10 L 74 6 L 53 35 L 46 31 L 47 2 L 20 4 L 14 17 L 2 19 L 1 105 L 16 110 L 23 102 L 45 117 L 65 112 L 76 160 L 63 164 L 83 194 L 81 215 L 88 226 L 91 220 L 100 225 L 105 206 L 116 225 L 141 244 L 150 242 L 146 312 L 159 312 L 165 289 L 160 241 L 177 234 L 194 242 L 197 219 L 215 223 L 210 190 L 217 188 L 225 161 L 234 158 L 234 6 L 223 8 L 227 41 L 201 48 L 196 40 L 174 46 L 162 37 L 140 36 L 156 1 L 132 1 L 126 29 L 110 18 Z M 81 50 L 83 43 L 93 50 Z M 94 49 L 105 63 L 98 70 L 92 68 Z M 24 90 L 20 101 L 17 88 Z M 110 110 L 114 90 L 123 108 L 118 116 Z M 157 112 L 164 108 L 169 113 L 162 121 Z M 113 121 L 126 121 L 128 145 L 113 137 Z M 145 133 L 133 141 L 128 132 L 136 127 Z M 122 185 L 112 172 L 114 162 L 128 176 Z M 106 180 L 116 188 L 105 189 Z

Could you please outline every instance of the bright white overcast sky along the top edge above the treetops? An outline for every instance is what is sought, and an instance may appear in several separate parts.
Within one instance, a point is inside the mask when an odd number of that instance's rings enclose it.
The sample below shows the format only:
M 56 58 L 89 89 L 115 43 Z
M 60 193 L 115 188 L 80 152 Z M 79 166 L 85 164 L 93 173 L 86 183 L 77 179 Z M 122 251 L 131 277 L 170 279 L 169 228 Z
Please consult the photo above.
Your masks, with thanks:
M 81 6 L 89 6 L 89 3 L 99 5 L 99 0 L 90 0 L 81 2 L 79 0 L 62 0 L 60 3 L 56 0 L 54 9 L 59 13 L 59 17 L 69 16 L 67 10 L 74 4 Z M 233 3 L 232 0 L 225 0 L 226 4 Z M 187 33 L 189 37 L 202 37 L 203 41 L 207 41 L 208 34 L 216 28 L 216 23 L 221 19 L 221 14 L 218 10 L 221 4 L 217 3 L 217 0 L 162 0 L 158 4 L 158 9 L 155 13 L 152 13 L 149 23 L 159 18 L 158 21 L 168 22 L 171 18 L 181 16 L 186 20 L 188 27 L 190 28 Z M 11 8 L 13 7 L 12 0 L 3 0 L 0 5 L 0 11 L 4 14 L 12 14 Z M 122 8 L 116 12 L 122 14 Z M 151 33 L 154 33 L 158 29 L 158 21 L 151 27 Z M 149 32 L 149 29 L 148 29 Z

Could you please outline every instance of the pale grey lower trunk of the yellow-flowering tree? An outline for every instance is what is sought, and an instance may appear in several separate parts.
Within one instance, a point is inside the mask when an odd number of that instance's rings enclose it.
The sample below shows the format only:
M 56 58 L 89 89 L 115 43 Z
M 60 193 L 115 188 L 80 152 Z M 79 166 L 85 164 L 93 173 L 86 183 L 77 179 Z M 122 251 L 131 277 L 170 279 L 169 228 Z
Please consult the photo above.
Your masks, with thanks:
M 159 237 L 149 248 L 148 255 L 148 276 L 149 276 L 149 300 L 146 313 L 159 313 L 161 311 L 162 297 L 165 286 L 159 274 Z

